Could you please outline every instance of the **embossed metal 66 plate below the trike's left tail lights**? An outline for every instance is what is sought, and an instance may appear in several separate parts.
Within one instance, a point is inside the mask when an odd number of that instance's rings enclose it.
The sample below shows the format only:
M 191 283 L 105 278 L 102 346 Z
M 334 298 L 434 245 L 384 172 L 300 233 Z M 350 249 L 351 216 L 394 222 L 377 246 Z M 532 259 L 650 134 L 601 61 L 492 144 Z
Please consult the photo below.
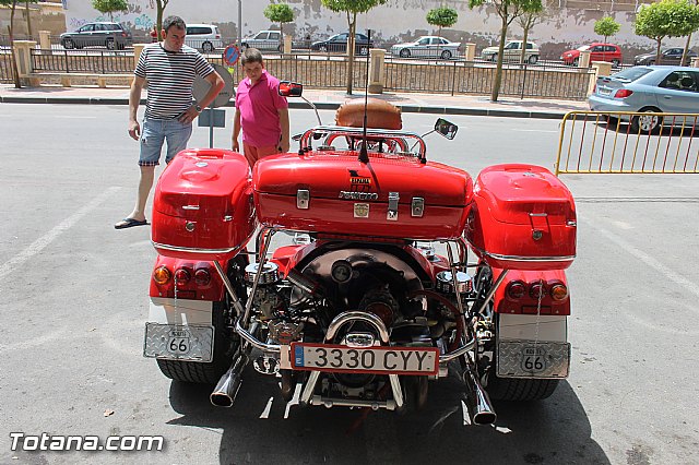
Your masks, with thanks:
M 211 361 L 213 347 L 213 326 L 145 323 L 144 357 Z

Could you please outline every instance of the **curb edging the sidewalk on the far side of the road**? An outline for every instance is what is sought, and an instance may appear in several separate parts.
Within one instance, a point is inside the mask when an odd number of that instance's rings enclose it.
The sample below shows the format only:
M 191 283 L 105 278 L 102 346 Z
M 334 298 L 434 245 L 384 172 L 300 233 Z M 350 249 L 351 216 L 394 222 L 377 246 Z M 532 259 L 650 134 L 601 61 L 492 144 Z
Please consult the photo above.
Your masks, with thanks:
M 2 96 L 2 104 L 73 104 L 73 105 L 129 105 L 128 98 L 116 97 L 36 97 L 36 96 Z M 141 105 L 145 105 L 145 99 L 141 99 Z M 339 102 L 315 102 L 316 108 L 319 110 L 335 110 L 342 105 Z M 224 105 L 225 107 L 235 107 L 233 102 Z M 289 102 L 288 107 L 292 109 L 310 109 L 308 104 L 304 102 Z M 505 118 L 538 118 L 538 119 L 562 119 L 566 112 L 545 111 L 545 110 L 507 110 L 507 109 L 487 109 L 487 108 L 469 108 L 469 107 L 447 107 L 447 106 L 419 106 L 419 105 L 396 105 L 401 111 L 406 114 L 431 114 L 431 115 L 466 115 L 466 116 L 487 116 L 487 117 L 505 117 Z

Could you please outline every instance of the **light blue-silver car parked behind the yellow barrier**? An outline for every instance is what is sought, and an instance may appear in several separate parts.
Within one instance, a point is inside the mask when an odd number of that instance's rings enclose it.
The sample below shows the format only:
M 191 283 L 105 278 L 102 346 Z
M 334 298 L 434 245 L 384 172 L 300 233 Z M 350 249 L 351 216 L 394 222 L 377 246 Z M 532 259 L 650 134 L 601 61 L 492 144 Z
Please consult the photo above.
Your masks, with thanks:
M 687 67 L 633 67 L 611 76 L 597 78 L 588 97 L 593 111 L 699 112 L 699 69 Z M 629 121 L 621 116 L 623 121 Z M 655 133 L 663 123 L 657 115 L 630 118 L 631 130 Z M 675 118 L 664 126 L 695 124 L 696 118 Z

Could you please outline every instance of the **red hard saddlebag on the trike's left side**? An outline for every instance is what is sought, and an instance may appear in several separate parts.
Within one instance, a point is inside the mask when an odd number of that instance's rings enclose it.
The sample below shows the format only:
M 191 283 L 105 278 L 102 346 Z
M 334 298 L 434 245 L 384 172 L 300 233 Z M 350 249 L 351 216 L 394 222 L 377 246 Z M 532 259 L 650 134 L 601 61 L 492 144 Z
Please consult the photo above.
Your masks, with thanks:
M 216 148 L 180 152 L 155 189 L 152 240 L 166 257 L 221 260 L 238 253 L 256 228 L 250 168 Z

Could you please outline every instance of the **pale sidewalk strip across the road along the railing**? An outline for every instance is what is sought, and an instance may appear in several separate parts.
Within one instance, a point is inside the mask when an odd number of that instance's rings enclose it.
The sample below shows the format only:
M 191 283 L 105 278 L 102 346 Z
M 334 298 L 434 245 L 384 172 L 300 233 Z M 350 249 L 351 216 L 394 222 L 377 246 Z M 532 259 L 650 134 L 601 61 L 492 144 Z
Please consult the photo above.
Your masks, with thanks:
M 364 98 L 363 91 L 347 96 L 341 90 L 304 90 L 304 96 L 318 109 L 335 109 L 348 98 Z M 485 95 L 384 93 L 369 94 L 369 97 L 388 100 L 403 112 L 426 112 L 441 115 L 476 115 L 514 118 L 561 119 L 572 110 L 589 109 L 587 102 L 552 100 L 517 97 L 501 97 L 493 103 Z M 14 104 L 82 104 L 82 105 L 128 105 L 127 87 L 61 87 L 42 86 L 14 88 L 11 84 L 0 84 L 0 103 Z M 233 102 L 226 106 L 234 106 Z M 289 108 L 308 108 L 300 98 L 289 98 Z

